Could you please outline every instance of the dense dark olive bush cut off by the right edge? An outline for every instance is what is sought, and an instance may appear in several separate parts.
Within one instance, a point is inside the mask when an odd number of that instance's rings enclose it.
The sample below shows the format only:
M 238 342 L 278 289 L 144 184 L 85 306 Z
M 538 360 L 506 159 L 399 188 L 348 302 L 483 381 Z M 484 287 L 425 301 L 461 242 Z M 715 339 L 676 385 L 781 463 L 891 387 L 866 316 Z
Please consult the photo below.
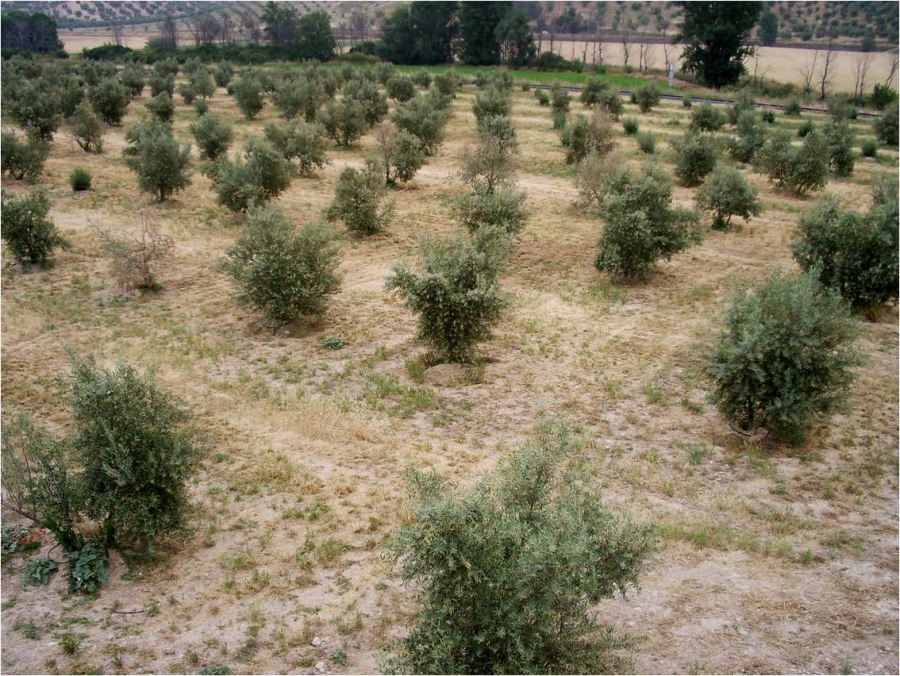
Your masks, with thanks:
M 794 260 L 852 307 L 866 309 L 897 300 L 898 203 L 893 194 L 867 213 L 841 209 L 825 198 L 801 214 L 791 245 Z

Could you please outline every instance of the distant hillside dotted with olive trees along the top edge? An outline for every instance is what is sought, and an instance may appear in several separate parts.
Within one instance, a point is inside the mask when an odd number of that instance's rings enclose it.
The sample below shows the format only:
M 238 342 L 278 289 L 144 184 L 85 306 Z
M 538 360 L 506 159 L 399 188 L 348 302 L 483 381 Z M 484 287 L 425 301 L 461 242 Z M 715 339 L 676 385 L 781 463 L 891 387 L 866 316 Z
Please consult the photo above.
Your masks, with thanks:
M 301 13 L 325 11 L 335 29 L 346 26 L 351 14 L 362 12 L 369 25 L 381 20 L 404 2 L 292 2 Z M 611 34 L 630 30 L 645 39 L 659 39 L 663 30 L 671 36 L 682 17 L 675 2 L 514 2 L 531 17 L 536 31 L 552 33 Z M 871 2 L 767 2 L 778 18 L 776 44 L 802 46 L 821 42 L 829 33 L 845 44 L 859 44 L 870 34 L 880 48 L 895 48 L 900 41 L 900 15 L 894 0 Z M 5 2 L 0 9 L 40 11 L 56 18 L 60 28 L 124 26 L 156 23 L 167 15 L 187 19 L 203 13 L 232 15 L 252 12 L 259 15 L 262 2 L 196 2 L 156 0 L 155 2 L 99 2 L 96 0 Z

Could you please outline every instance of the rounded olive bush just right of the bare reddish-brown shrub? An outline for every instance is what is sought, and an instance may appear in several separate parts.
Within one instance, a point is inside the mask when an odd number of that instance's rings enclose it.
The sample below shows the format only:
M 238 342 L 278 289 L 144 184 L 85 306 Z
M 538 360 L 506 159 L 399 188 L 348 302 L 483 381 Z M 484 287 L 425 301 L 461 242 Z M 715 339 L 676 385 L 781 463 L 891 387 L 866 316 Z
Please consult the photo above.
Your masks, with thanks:
M 321 223 L 299 231 L 272 205 L 247 213 L 247 227 L 225 252 L 222 270 L 238 287 L 238 301 L 277 329 L 304 315 L 319 316 L 340 290 L 340 248 Z

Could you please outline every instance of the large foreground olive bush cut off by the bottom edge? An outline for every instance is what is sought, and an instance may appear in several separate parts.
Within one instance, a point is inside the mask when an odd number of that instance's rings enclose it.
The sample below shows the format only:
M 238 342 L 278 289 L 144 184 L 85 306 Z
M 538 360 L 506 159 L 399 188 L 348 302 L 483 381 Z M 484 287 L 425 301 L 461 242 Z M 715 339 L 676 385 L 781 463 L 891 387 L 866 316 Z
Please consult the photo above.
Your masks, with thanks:
M 389 547 L 419 609 L 389 673 L 618 673 L 634 641 L 591 608 L 637 584 L 652 530 L 607 511 L 568 431 L 467 489 L 409 470 L 413 517 Z M 553 593 L 548 593 L 553 590 Z

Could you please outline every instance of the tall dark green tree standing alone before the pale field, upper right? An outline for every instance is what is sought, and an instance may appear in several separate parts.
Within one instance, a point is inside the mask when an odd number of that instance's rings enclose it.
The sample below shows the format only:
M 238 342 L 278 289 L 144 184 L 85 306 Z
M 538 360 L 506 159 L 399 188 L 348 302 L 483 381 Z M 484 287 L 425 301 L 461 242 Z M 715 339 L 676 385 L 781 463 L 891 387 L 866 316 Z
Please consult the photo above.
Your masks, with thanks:
M 744 73 L 747 46 L 764 7 L 762 2 L 682 2 L 684 20 L 674 43 L 687 43 L 682 69 L 716 89 L 736 84 Z

